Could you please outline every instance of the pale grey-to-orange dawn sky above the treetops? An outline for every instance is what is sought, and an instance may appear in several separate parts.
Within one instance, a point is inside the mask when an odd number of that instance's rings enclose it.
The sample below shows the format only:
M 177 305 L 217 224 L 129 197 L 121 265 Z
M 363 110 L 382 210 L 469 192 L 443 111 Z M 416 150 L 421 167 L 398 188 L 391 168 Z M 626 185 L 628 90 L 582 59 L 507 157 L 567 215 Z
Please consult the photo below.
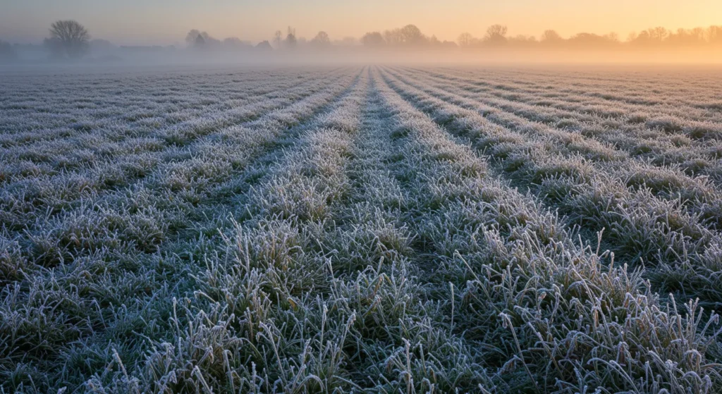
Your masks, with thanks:
M 722 25 L 722 0 L 0 0 L 0 40 L 39 43 L 57 19 L 76 19 L 93 38 L 118 45 L 178 45 L 188 30 L 215 38 L 271 40 L 295 27 L 299 37 L 319 30 L 332 40 L 360 37 L 408 24 L 426 35 L 456 40 L 461 32 L 482 37 L 489 25 L 510 35 L 539 37 L 606 34 L 662 26 Z

